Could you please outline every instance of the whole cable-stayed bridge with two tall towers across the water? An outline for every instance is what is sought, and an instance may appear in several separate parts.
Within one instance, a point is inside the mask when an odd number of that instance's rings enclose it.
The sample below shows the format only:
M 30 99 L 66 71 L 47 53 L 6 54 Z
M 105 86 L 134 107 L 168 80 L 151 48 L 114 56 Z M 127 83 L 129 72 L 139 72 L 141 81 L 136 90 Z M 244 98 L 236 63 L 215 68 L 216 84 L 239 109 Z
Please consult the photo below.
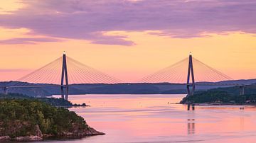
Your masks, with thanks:
M 169 67 L 145 76 L 137 83 L 162 83 L 186 86 L 187 96 L 193 96 L 196 86 L 239 86 L 240 95 L 245 94 L 245 86 L 252 84 L 223 84 L 223 81 L 232 80 L 220 71 L 204 64 L 190 55 Z M 10 88 L 41 88 L 59 87 L 61 98 L 68 100 L 70 86 L 78 84 L 119 84 L 124 81 L 82 64 L 63 53 L 62 57 L 36 69 L 30 74 L 18 79 L 17 84 L 6 85 L 0 88 L 7 94 Z

